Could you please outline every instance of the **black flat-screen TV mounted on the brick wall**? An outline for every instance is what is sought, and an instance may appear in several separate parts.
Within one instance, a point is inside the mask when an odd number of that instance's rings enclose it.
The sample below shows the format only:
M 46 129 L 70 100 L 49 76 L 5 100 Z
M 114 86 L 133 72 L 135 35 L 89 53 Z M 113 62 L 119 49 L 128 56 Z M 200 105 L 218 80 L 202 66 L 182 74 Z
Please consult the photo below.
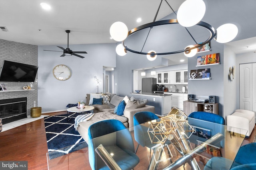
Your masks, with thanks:
M 0 82 L 34 82 L 38 66 L 4 61 Z

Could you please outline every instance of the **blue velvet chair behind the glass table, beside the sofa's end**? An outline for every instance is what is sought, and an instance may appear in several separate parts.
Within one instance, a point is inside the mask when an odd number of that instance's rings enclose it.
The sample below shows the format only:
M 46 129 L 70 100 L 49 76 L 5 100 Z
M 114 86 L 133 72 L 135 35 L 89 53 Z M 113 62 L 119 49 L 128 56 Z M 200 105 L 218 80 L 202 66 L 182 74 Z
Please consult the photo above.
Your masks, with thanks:
M 140 111 L 133 116 L 134 138 L 135 141 L 138 142 L 135 153 L 137 152 L 139 145 L 150 148 L 150 151 L 151 148 L 156 145 L 151 143 L 150 137 L 148 136 L 148 127 L 140 125 L 155 119 L 159 119 L 159 117 L 150 111 Z

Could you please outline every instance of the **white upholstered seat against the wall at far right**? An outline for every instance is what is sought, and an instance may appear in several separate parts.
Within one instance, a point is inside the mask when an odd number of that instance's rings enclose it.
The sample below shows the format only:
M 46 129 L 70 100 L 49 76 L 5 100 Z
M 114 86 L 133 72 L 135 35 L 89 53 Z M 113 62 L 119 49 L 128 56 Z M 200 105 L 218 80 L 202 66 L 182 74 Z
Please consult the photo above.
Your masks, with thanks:
M 229 126 L 228 131 L 241 133 L 249 137 L 255 126 L 255 113 L 249 110 L 237 109 L 234 113 L 227 116 L 226 122 L 227 126 Z

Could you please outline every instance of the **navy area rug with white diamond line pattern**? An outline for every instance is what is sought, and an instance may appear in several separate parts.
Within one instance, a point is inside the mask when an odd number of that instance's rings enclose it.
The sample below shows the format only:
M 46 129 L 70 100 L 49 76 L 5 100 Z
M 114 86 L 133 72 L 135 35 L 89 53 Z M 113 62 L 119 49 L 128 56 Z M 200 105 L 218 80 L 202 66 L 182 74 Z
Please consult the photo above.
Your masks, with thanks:
M 81 113 L 44 117 L 48 153 L 50 159 L 88 147 L 81 135 L 75 130 L 75 117 Z M 69 121 L 67 121 L 70 119 Z

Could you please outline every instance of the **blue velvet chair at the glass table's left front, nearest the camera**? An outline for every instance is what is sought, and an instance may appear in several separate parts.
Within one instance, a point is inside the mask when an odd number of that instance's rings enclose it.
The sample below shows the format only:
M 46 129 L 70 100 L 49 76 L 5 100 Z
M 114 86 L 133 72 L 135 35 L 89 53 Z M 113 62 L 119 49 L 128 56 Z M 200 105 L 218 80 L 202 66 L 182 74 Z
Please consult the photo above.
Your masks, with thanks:
M 140 162 L 134 153 L 134 143 L 129 129 L 118 120 L 104 120 L 90 125 L 88 139 L 89 162 L 92 170 L 109 169 L 95 152 L 100 144 L 108 153 L 114 154 L 112 158 L 122 170 L 131 170 Z

